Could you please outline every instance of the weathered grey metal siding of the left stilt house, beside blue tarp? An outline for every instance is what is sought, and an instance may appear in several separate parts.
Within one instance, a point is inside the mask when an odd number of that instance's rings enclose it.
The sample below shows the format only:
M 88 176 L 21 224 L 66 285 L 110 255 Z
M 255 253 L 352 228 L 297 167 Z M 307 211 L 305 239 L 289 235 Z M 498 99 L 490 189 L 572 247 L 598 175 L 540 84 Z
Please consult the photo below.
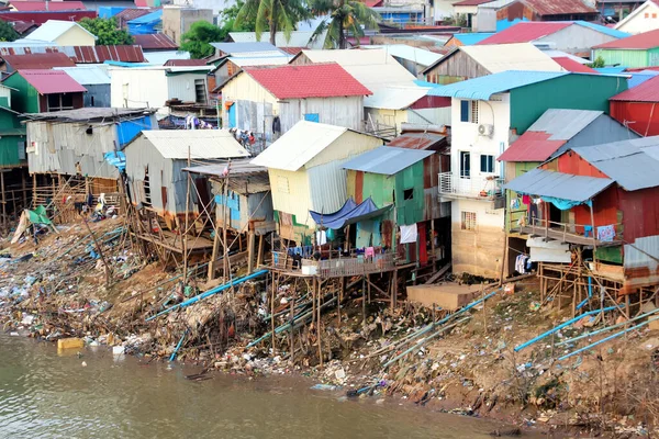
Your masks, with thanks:
M 89 177 L 119 177 L 116 168 L 103 159 L 105 153 L 114 150 L 113 125 L 91 124 L 92 134 L 86 134 L 89 123 L 29 122 L 26 125 L 27 145 L 36 143 L 36 151 L 27 154 L 30 173 L 72 176 L 77 173 L 79 161 L 82 173 Z

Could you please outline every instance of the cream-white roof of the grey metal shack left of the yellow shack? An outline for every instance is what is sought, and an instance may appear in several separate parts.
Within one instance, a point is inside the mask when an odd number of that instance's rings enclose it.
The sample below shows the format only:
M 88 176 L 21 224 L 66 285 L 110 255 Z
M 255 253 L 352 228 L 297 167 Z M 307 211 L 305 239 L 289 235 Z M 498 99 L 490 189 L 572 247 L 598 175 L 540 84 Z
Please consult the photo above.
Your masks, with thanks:
M 227 130 L 144 130 L 142 135 L 165 158 L 187 159 L 188 151 L 192 159 L 249 157 Z

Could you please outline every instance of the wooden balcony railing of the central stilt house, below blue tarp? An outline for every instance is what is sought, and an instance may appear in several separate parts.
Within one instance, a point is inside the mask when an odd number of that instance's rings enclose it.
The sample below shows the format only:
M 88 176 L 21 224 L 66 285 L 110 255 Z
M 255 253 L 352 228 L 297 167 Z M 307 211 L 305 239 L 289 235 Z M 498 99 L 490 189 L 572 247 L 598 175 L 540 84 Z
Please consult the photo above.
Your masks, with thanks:
M 343 278 L 383 273 L 395 270 L 393 252 L 379 254 L 373 257 L 358 255 L 355 257 L 340 257 L 336 259 L 305 259 L 298 267 L 293 257 L 282 252 L 272 251 L 272 269 L 299 277 Z

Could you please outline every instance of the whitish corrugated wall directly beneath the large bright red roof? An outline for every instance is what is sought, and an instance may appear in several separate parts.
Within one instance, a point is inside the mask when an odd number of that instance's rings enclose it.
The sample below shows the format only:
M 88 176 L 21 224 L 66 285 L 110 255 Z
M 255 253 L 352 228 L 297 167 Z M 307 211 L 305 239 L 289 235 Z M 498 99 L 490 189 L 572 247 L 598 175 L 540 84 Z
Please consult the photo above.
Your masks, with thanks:
M 287 100 L 279 104 L 281 131 L 287 132 L 304 120 L 304 114 L 317 114 L 319 122 L 361 131 L 364 97 L 312 98 Z

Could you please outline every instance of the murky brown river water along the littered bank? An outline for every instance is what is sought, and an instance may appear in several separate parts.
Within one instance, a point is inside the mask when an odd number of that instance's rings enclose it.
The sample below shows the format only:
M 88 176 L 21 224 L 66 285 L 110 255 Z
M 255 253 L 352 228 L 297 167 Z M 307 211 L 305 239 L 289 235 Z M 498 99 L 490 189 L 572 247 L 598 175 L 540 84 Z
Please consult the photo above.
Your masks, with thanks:
M 87 367 L 82 367 L 82 362 Z M 0 335 L 0 438 L 489 438 L 498 426 L 429 409 L 342 401 L 288 376 L 248 380 L 179 365 L 82 358 Z

